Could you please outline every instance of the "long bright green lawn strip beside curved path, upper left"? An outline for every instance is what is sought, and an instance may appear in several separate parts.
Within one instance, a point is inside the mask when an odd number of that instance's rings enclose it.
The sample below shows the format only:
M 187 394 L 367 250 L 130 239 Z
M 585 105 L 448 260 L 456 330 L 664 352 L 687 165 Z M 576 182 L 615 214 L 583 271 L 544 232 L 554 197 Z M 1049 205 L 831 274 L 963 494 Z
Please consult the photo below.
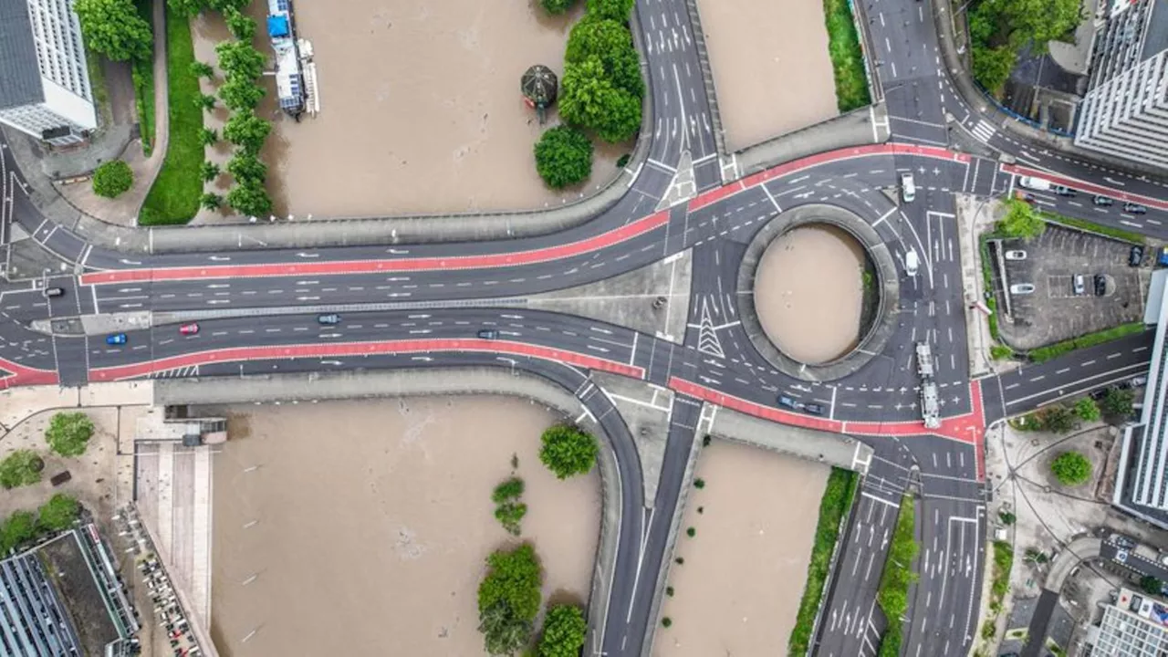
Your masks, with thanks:
M 190 72 L 195 49 L 190 42 L 190 23 L 167 11 L 166 18 L 166 75 L 169 90 L 171 131 L 162 170 L 146 195 L 138 217 L 141 226 L 186 223 L 199 212 L 203 193 L 200 167 L 203 164 L 203 144 L 200 130 L 203 112 L 195 104 L 200 96 L 199 78 Z

